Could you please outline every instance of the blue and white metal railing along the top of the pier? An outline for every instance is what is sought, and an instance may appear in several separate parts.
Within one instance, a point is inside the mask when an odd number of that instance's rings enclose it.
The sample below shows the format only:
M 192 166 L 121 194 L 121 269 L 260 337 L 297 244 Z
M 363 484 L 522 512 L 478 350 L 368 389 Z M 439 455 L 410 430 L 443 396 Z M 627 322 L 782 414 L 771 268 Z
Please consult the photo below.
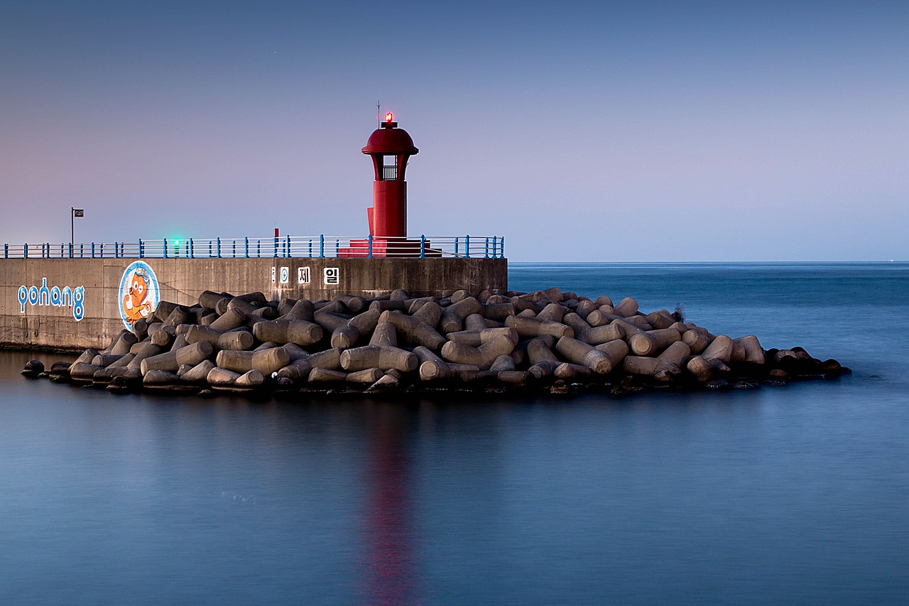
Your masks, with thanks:
M 325 240 L 328 240 L 326 246 Z M 315 245 L 315 246 L 314 246 Z M 504 258 L 502 236 L 286 236 L 4 244 L 4 258 Z

